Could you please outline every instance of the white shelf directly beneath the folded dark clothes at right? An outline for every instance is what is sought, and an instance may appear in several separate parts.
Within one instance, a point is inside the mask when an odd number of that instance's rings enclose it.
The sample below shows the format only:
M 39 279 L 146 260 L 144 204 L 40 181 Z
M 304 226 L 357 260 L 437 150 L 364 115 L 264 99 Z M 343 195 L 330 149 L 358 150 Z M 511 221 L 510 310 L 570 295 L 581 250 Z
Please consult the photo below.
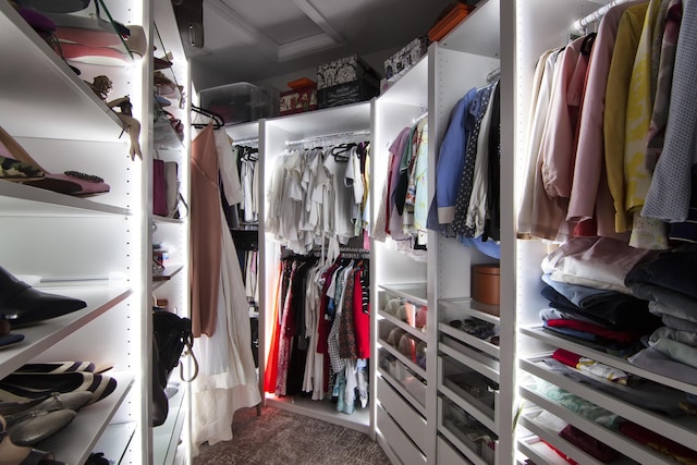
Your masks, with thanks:
M 653 371 L 649 371 L 644 368 L 637 367 L 636 365 L 632 365 L 625 358 L 615 357 L 613 355 L 609 355 L 607 353 L 587 347 L 578 342 L 574 342 L 554 334 L 550 334 L 549 331 L 546 331 L 539 325 L 522 327 L 521 333 L 528 335 L 530 338 L 535 338 L 547 344 L 554 345 L 557 347 L 573 352 L 576 355 L 583 355 L 584 357 L 591 358 L 596 362 L 610 365 L 615 368 L 620 368 L 623 371 L 638 375 L 643 378 L 650 379 L 651 381 L 660 382 L 661 384 L 665 384 L 668 387 L 677 389 L 680 391 L 685 391 L 685 392 L 689 392 L 690 394 L 697 395 L 697 386 L 689 384 L 687 382 L 683 382 L 673 378 L 668 378 L 665 376 L 656 374 Z

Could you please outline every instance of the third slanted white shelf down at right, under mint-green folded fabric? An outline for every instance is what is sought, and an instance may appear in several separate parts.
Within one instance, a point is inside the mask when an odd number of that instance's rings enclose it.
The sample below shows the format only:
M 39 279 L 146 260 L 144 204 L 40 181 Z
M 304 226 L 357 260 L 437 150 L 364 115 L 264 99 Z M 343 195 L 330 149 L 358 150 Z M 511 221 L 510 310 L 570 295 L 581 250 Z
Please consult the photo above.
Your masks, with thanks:
M 570 411 L 554 400 L 540 395 L 526 387 L 521 387 L 521 395 L 525 400 L 533 402 L 538 407 L 567 420 L 570 424 L 573 424 L 576 428 L 587 432 L 594 438 L 602 438 L 603 443 L 640 464 L 656 464 L 665 461 L 665 455 L 650 448 L 643 448 L 632 439 L 611 429 L 604 428 L 603 426 Z

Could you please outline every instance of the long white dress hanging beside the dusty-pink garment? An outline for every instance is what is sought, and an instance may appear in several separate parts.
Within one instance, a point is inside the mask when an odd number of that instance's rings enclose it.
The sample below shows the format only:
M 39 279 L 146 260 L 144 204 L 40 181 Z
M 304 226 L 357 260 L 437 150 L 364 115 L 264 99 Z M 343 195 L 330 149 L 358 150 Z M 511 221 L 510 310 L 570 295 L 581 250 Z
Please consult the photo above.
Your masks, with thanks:
M 217 156 L 223 192 L 232 205 L 242 198 L 232 148 L 224 132 L 216 132 Z M 234 167 L 233 167 L 234 168 Z M 235 180 L 234 176 L 237 176 Z M 222 224 L 227 224 L 220 206 Z M 222 257 L 218 314 L 212 336 L 201 335 L 194 344 L 199 372 L 192 383 L 193 455 L 204 442 L 216 444 L 232 439 L 235 411 L 261 402 L 254 357 L 248 304 L 237 252 L 227 227 L 221 234 Z

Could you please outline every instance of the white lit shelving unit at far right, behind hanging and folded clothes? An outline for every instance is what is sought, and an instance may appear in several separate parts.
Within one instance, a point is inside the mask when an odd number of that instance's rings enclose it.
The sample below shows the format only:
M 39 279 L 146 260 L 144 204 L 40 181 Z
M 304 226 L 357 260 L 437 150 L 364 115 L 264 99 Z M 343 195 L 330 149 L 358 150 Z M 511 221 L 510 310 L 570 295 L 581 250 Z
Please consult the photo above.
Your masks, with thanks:
M 599 7 L 601 4 L 598 2 L 583 0 L 517 2 L 513 15 L 508 20 L 510 21 L 510 29 L 515 30 L 513 37 L 508 38 L 509 42 L 506 45 L 510 51 L 514 51 L 509 62 L 514 65 L 515 72 L 513 75 L 515 79 L 506 87 L 510 98 L 502 100 L 508 106 L 505 111 L 502 107 L 502 115 L 506 112 L 516 115 L 514 119 L 515 130 L 506 137 L 506 144 L 510 145 L 512 152 L 515 154 L 514 172 L 509 174 L 511 185 L 515 186 L 514 192 L 519 192 L 522 180 L 524 179 L 522 170 L 525 167 L 525 137 L 527 134 L 527 117 L 525 115 L 528 114 L 530 106 L 529 94 L 536 61 L 545 50 L 566 45 L 570 34 L 574 32 L 572 30 L 572 24 L 576 20 L 598 10 Z M 514 196 L 511 198 L 514 198 Z M 600 463 L 588 451 L 574 446 L 571 442 L 561 438 L 558 431 L 553 431 L 537 421 L 537 414 L 548 411 L 620 452 L 622 457 L 612 462 L 613 464 L 676 463 L 668 455 L 643 445 L 620 431 L 606 428 L 576 412 L 572 412 L 562 403 L 536 391 L 535 382 L 540 379 L 545 380 L 585 401 L 603 407 L 621 418 L 632 420 L 693 451 L 695 450 L 697 428 L 693 417 L 669 418 L 657 414 L 644 406 L 635 405 L 606 393 L 604 389 L 594 389 L 555 372 L 542 362 L 545 358 L 550 357 L 557 348 L 564 348 L 626 372 L 638 375 L 663 387 L 692 394 L 697 392 L 697 387 L 693 384 L 637 368 L 624 358 L 596 351 L 582 343 L 545 331 L 539 321 L 538 310 L 548 306 L 548 302 L 541 297 L 539 292 L 541 290 L 541 269 L 539 264 L 546 253 L 545 244 L 540 242 L 515 241 L 514 254 L 516 260 L 514 269 L 511 270 L 516 277 L 515 295 L 509 294 L 509 298 L 515 299 L 517 307 L 518 395 L 523 406 L 515 431 L 518 454 L 533 460 L 537 464 L 565 463 L 540 441 L 540 439 L 543 439 L 578 463 Z

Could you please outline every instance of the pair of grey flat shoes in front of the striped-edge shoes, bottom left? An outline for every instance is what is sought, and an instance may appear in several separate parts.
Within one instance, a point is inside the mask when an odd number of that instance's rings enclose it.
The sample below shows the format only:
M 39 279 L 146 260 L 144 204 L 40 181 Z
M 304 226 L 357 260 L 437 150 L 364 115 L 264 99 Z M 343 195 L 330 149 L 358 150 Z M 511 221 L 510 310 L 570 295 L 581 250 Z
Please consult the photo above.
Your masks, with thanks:
M 90 400 L 90 392 L 78 391 L 53 393 L 44 400 L 0 402 L 0 415 L 13 443 L 34 445 L 65 428 Z

